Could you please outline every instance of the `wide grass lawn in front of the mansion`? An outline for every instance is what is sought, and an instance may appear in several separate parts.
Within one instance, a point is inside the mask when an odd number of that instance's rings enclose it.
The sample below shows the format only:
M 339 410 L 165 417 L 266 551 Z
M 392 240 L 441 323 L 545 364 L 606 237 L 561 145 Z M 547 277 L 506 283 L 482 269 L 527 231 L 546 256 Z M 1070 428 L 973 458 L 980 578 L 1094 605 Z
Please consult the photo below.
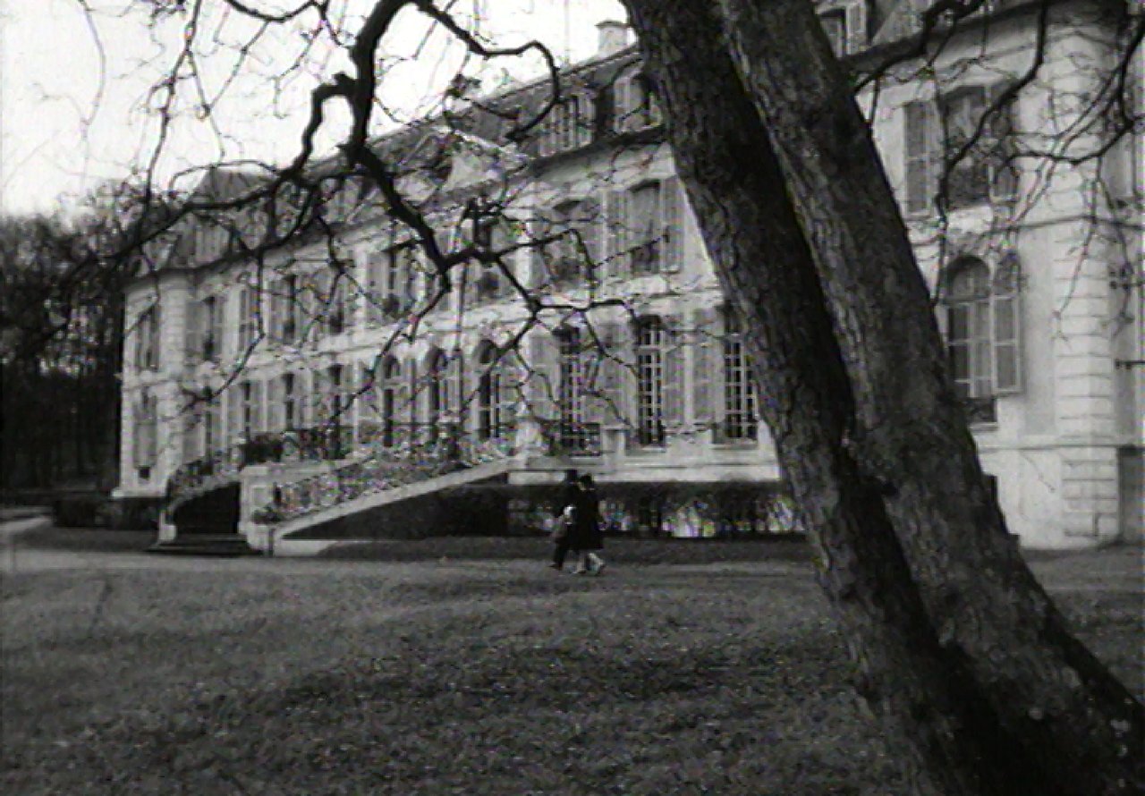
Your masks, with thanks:
M 906 793 L 807 563 L 441 552 L 6 577 L 0 791 Z M 1140 695 L 1139 584 L 1058 583 Z

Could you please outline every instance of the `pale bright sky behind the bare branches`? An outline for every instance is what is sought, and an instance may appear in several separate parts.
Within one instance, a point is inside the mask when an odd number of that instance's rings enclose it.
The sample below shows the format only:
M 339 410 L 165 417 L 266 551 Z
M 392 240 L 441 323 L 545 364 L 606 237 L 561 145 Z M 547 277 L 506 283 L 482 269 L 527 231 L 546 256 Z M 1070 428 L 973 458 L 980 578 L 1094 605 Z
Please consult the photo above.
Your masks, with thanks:
M 88 15 L 84 5 L 94 9 Z M 119 181 L 153 166 L 159 182 L 220 159 L 283 163 L 297 151 L 309 90 L 346 62 L 314 47 L 302 70 L 283 82 L 284 64 L 301 47 L 297 31 L 268 36 L 239 76 L 228 82 L 234 49 L 252 32 L 221 0 L 203 0 L 210 11 L 198 31 L 199 71 L 213 103 L 198 112 L 191 82 L 180 84 L 179 112 L 156 157 L 159 101 L 150 92 L 167 72 L 185 33 L 169 18 L 149 27 L 141 0 L 0 0 L 0 211 L 8 214 L 68 212 L 103 181 Z M 259 8 L 287 0 L 247 0 Z M 370 0 L 346 0 L 363 13 Z M 623 19 L 616 0 L 455 0 L 460 13 L 480 19 L 479 30 L 511 46 L 530 38 L 562 58 L 579 61 L 597 48 L 595 23 Z M 382 101 L 397 119 L 432 110 L 427 96 L 463 63 L 441 31 L 426 39 L 429 23 L 404 13 L 387 38 Z M 467 69 L 477 69 L 471 62 Z M 482 76 L 496 81 L 508 71 L 523 77 L 536 63 L 498 61 Z M 334 116 L 319 145 L 333 145 Z M 389 124 L 393 124 L 390 121 Z M 345 129 L 345 127 L 341 127 Z

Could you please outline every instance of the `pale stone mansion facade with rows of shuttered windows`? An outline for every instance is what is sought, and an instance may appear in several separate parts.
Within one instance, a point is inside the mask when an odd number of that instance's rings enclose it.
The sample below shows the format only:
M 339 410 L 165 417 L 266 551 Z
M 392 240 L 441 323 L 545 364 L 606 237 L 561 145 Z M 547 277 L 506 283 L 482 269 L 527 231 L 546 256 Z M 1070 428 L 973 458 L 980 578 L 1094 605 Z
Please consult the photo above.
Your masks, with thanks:
M 1108 134 L 1079 100 L 1118 52 L 1104 8 L 1055 3 L 1039 79 L 996 108 L 1028 69 L 1036 5 L 989 9 L 927 69 L 861 94 L 985 467 L 1030 546 L 1142 534 L 1140 123 L 1104 158 L 1069 158 Z M 918 24 L 909 5 L 821 10 L 856 69 Z M 325 195 L 333 235 L 252 257 L 196 223 L 157 251 L 128 298 L 119 496 L 242 482 L 239 527 L 266 546 L 434 484 L 489 486 L 528 527 L 538 489 L 576 467 L 617 533 L 798 531 L 623 25 L 601 25 L 598 57 L 520 145 L 496 143 L 508 113 L 474 110 L 546 96 L 511 88 L 379 143 L 436 245 L 473 254 L 448 291 L 424 241 L 349 183 Z M 216 170 L 205 190 L 251 180 Z

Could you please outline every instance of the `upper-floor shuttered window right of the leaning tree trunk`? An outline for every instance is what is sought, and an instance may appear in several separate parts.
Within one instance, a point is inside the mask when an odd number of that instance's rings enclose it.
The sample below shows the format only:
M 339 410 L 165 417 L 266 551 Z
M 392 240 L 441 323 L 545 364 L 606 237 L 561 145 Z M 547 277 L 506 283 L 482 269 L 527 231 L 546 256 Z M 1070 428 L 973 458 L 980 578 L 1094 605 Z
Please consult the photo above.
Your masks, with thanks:
M 919 100 L 906 105 L 908 213 L 931 210 L 945 165 L 946 190 L 939 199 L 948 210 L 1012 200 L 1018 187 L 1012 163 L 1013 109 L 1002 107 L 984 121 L 1000 90 L 968 86 L 940 97 L 937 104 Z

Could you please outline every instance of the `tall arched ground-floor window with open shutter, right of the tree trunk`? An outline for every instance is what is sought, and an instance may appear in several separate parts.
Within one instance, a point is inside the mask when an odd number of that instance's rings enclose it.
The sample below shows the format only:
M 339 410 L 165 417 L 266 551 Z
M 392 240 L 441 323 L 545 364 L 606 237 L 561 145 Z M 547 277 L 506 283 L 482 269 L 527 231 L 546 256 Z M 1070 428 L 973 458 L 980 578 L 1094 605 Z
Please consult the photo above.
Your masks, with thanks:
M 1020 389 L 1019 266 L 1003 257 L 995 273 L 962 257 L 947 269 L 947 352 L 956 395 L 972 420 L 993 421 L 994 397 Z

